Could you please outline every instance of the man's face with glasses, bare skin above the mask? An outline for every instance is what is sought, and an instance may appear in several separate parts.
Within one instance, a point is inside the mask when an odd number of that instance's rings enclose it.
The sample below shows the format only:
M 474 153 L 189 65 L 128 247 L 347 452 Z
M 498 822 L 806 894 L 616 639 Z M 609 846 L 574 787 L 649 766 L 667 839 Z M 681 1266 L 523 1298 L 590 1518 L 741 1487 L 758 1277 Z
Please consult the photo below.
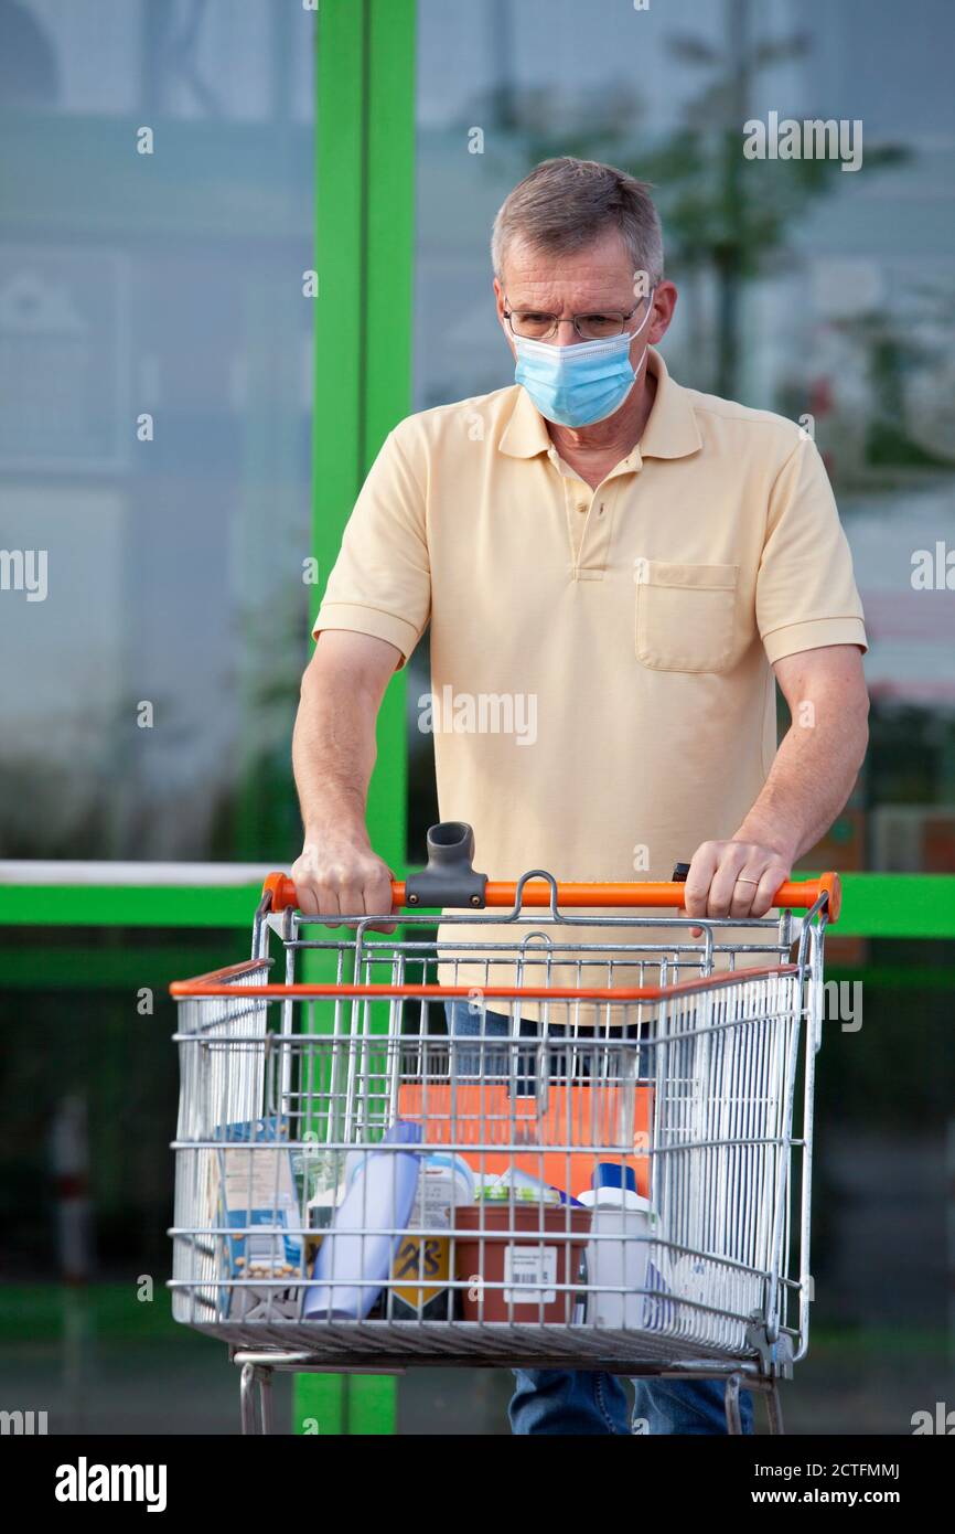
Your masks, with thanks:
M 498 321 L 515 356 L 504 310 L 532 310 L 570 319 L 573 314 L 630 314 L 638 305 L 625 321 L 625 330 L 633 333 L 633 367 L 644 347 L 664 336 L 676 302 L 673 284 L 661 282 L 651 299 L 653 314 L 647 319 L 647 287 L 645 273 L 633 272 L 627 247 L 616 233 L 604 235 L 593 245 L 567 256 L 553 256 L 526 241 L 514 241 L 501 281 L 494 279 Z M 550 345 L 573 347 L 579 339 L 573 325 L 560 325 Z

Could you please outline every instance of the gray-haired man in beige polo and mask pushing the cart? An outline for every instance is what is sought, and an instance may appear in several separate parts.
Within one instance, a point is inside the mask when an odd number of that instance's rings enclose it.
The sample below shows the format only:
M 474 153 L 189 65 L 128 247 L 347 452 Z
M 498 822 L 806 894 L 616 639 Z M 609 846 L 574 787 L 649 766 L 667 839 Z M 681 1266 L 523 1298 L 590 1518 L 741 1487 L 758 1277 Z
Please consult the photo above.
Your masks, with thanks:
M 533 749 L 435 733 L 441 818 L 474 825 L 492 877 L 627 879 L 638 848 L 641 874 L 665 879 L 693 848 L 690 916 L 763 916 L 866 746 L 861 607 L 819 453 L 793 422 L 670 377 L 655 347 L 676 288 L 632 176 L 537 166 L 492 255 L 515 382 L 394 428 L 314 627 L 294 735 L 302 910 L 391 910 L 365 828 L 376 713 L 431 623 L 437 696 L 535 700 Z M 452 1009 L 452 1031 L 477 1022 Z M 720 1382 L 633 1385 L 648 1431 L 725 1431 Z M 510 1420 L 627 1433 L 625 1399 L 610 1374 L 524 1370 Z

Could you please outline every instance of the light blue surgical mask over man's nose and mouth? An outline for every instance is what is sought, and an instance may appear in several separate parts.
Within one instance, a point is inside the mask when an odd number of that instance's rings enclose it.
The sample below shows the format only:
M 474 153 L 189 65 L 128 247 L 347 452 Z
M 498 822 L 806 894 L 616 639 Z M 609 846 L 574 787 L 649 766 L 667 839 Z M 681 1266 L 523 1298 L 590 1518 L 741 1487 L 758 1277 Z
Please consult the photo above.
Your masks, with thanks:
M 653 298 L 653 295 L 650 295 Z M 630 342 L 650 319 L 653 305 L 638 330 L 610 341 L 581 341 L 555 347 L 546 341 L 515 336 L 515 384 L 523 384 L 546 420 L 560 426 L 592 426 L 619 410 L 636 384 L 647 347 L 636 368 L 630 364 Z

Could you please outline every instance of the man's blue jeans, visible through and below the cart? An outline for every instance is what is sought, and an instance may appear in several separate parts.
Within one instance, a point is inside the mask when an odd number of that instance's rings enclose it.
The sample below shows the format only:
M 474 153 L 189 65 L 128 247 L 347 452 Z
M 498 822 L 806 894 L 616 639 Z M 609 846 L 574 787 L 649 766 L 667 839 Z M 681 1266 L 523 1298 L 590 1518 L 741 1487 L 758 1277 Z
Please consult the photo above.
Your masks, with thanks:
M 468 1002 L 445 1003 L 448 1031 L 455 1037 L 486 1034 L 509 1037 L 510 1019 L 501 1012 L 472 1012 Z M 521 1035 L 532 1035 L 535 1025 L 521 1020 Z M 550 1028 L 549 1037 L 561 1037 L 561 1028 Z M 484 1072 L 507 1074 L 506 1051 L 484 1046 Z M 518 1051 L 520 1054 L 520 1051 Z M 477 1075 L 481 1069 L 480 1049 L 461 1051 L 457 1071 Z M 518 1069 L 532 1071 L 532 1051 L 520 1060 Z M 530 1078 L 518 1080 L 518 1091 L 530 1091 Z M 632 1379 L 635 1401 L 627 1404 L 627 1391 L 616 1374 L 602 1370 L 517 1368 L 517 1388 L 510 1397 L 509 1417 L 514 1433 L 595 1434 L 595 1433 L 696 1433 L 727 1431 L 725 1385 L 719 1379 Z M 739 1393 L 739 1416 L 743 1433 L 753 1433 L 753 1396 Z

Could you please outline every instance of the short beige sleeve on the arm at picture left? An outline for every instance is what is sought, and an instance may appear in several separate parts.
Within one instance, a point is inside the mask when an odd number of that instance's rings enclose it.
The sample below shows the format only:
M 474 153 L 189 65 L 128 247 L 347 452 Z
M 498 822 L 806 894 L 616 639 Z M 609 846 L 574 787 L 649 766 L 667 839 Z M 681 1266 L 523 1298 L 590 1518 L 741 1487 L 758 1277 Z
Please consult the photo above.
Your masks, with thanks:
M 351 629 L 386 640 L 405 666 L 431 614 L 425 495 L 389 433 L 345 526 L 313 635 Z

